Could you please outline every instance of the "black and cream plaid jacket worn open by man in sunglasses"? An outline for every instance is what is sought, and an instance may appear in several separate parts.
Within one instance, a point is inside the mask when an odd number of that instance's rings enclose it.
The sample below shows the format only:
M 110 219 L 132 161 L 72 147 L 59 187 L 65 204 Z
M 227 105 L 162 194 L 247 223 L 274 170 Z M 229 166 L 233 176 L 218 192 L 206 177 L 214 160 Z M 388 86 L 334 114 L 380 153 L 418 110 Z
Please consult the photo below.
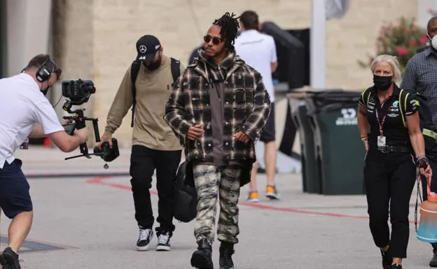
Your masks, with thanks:
M 207 68 L 208 64 L 200 52 L 200 57 L 187 66 L 174 84 L 165 106 L 164 118 L 185 148 L 187 161 L 213 160 L 208 89 L 216 73 Z M 232 52 L 223 59 L 219 68 L 223 68 L 226 75 L 223 96 L 223 158 L 225 161 L 254 162 L 254 143 L 267 123 L 270 96 L 265 90 L 261 74 Z M 186 133 L 194 124 L 202 124 L 204 133 L 197 140 L 190 140 Z M 238 131 L 246 133 L 251 141 L 244 144 L 233 138 Z

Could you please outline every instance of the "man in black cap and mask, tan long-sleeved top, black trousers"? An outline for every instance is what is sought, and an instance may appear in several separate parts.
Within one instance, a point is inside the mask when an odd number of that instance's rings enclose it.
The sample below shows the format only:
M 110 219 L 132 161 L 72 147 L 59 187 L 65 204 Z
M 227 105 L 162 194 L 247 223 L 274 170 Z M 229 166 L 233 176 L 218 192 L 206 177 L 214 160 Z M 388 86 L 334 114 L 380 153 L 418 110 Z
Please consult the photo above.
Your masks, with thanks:
M 156 170 L 158 189 L 158 235 L 156 250 L 169 250 L 174 231 L 173 196 L 176 170 L 181 162 L 181 145 L 162 118 L 174 80 L 185 66 L 162 53 L 155 36 L 146 35 L 137 41 L 137 59 L 127 68 L 106 120 L 99 146 L 120 126 L 132 106 L 132 153 L 130 180 L 134 198 L 135 219 L 139 226 L 137 250 L 144 251 L 153 238 L 153 211 L 149 189 Z

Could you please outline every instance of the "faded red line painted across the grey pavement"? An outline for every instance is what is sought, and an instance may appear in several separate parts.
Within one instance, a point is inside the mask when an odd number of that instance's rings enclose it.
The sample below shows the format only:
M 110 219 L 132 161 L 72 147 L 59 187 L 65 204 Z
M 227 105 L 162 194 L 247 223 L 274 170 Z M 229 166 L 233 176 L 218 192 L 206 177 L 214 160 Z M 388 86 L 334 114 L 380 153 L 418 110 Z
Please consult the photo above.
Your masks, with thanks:
M 116 189 L 124 189 L 126 191 L 131 191 L 132 188 L 125 184 L 120 183 L 111 183 L 111 182 L 105 182 L 104 180 L 109 179 L 110 177 L 95 177 L 91 180 L 87 180 L 87 183 L 89 184 L 99 184 L 104 186 L 113 187 Z M 157 191 L 151 191 L 151 194 L 157 195 Z M 311 210 L 300 210 L 296 208 L 281 208 L 275 205 L 263 205 L 259 203 L 246 203 L 246 202 L 240 202 L 239 205 L 246 206 L 248 208 L 258 208 L 263 210 L 272 210 L 272 211 L 280 211 L 280 212 L 291 212 L 291 213 L 298 213 L 298 214 L 305 214 L 305 215 L 319 215 L 319 216 L 325 216 L 325 217 L 344 217 L 349 219 L 368 219 L 368 215 L 347 215 L 347 214 L 338 214 L 338 213 L 328 213 L 328 212 L 317 212 L 317 211 L 311 211 Z M 414 221 L 410 221 L 411 224 L 414 224 Z M 419 220 L 417 220 L 417 224 L 419 224 Z

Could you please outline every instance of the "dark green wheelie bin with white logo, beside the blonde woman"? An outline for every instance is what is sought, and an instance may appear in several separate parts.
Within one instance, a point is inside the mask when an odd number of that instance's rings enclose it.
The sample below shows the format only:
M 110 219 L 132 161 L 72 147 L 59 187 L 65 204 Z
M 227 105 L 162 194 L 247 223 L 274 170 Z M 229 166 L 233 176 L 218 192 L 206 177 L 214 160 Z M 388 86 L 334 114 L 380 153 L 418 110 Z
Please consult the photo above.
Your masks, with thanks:
M 360 94 L 326 90 L 306 97 L 321 194 L 365 194 L 365 150 L 357 126 Z

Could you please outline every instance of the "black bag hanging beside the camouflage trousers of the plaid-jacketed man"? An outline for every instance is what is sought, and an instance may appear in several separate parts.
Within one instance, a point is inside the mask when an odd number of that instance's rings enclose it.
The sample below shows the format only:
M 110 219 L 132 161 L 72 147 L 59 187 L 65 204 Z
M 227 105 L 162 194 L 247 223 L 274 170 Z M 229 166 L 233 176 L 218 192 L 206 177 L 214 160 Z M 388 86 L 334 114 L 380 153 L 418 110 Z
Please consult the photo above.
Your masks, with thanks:
M 194 182 L 193 166 L 184 161 L 176 173 L 174 190 L 174 219 L 190 222 L 197 215 L 197 192 Z

